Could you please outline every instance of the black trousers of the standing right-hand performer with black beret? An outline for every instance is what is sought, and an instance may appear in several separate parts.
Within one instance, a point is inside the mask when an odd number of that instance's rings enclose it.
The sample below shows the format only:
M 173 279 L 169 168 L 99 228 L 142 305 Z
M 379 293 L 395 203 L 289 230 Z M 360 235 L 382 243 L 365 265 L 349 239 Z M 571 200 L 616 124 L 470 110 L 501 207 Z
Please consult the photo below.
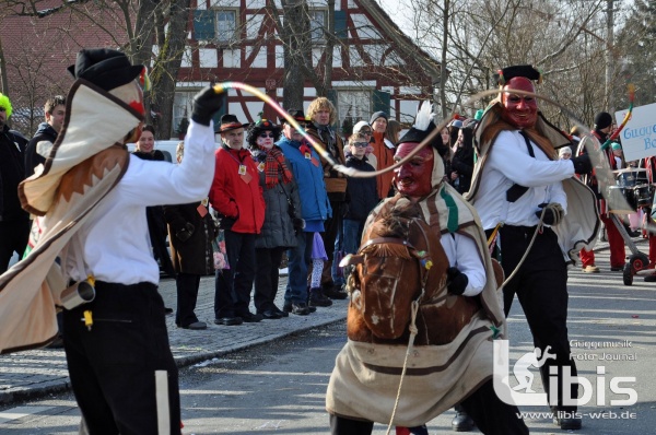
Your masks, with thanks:
M 506 277 L 515 270 L 526 252 L 535 227 L 504 225 L 500 230 L 502 267 Z M 563 405 L 563 392 L 576 398 L 578 384 L 569 391 L 563 391 L 563 369 L 569 369 L 571 376 L 576 376 L 576 364 L 570 357 L 570 341 L 567 339 L 567 267 L 558 245 L 558 236 L 551 228 L 543 228 L 536 237 L 526 260 L 503 289 L 504 311 L 507 317 L 514 296 L 526 315 L 528 327 L 534 337 L 534 344 L 542 351 L 548 346 L 555 360 L 548 358 L 540 367 L 542 386 L 549 395 L 549 368 L 558 367 L 558 409 L 576 411 L 575 405 Z

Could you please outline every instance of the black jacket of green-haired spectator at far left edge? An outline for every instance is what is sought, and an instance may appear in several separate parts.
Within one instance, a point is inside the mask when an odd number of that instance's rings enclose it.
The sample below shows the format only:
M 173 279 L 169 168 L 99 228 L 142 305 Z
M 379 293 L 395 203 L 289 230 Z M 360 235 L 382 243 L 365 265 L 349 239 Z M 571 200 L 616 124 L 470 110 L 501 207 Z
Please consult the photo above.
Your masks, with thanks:
M 25 178 L 27 140 L 4 126 L 0 130 L 0 221 L 28 220 L 21 207 L 19 184 Z

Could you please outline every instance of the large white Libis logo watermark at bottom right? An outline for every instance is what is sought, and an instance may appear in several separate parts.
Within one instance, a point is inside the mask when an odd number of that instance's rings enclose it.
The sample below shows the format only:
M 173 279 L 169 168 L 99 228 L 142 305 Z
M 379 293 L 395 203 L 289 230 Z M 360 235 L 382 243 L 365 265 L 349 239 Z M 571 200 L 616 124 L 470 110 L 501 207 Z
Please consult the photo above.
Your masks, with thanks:
M 522 355 L 513 365 L 513 375 L 517 385 L 511 387 L 509 369 L 509 345 L 508 340 L 494 340 L 494 392 L 504 402 L 516 405 L 558 405 L 558 391 L 570 391 L 571 386 L 578 383 L 578 390 L 583 392 L 581 398 L 570 398 L 563 395 L 563 405 L 585 405 L 595 398 L 598 407 L 607 404 L 613 407 L 632 405 L 637 402 L 637 392 L 626 384 L 635 383 L 634 376 L 613 376 L 607 378 L 606 366 L 598 365 L 596 376 L 593 381 L 582 376 L 572 376 L 570 367 L 562 367 L 562 385 L 558 385 L 557 367 L 549 367 L 549 390 L 552 391 L 553 403 L 549 402 L 546 392 L 536 392 L 534 390 L 535 373 L 547 363 L 548 360 L 555 360 L 555 355 L 550 352 L 548 346 L 542 354 L 540 349 L 536 348 L 534 352 Z M 601 358 L 599 358 L 601 361 Z M 530 368 L 535 367 L 534 371 Z M 607 400 L 606 386 L 612 392 Z

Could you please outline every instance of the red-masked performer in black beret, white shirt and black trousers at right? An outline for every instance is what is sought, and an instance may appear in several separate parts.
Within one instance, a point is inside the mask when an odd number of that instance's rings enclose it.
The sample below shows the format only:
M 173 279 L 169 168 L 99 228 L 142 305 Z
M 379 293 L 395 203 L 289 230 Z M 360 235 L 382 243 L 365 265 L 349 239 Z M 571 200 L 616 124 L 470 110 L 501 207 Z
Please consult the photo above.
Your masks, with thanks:
M 478 161 L 465 198 L 489 235 L 499 228 L 505 275 L 518 268 L 503 289 L 504 311 L 507 316 L 517 295 L 535 346 L 542 354 L 550 346 L 555 354 L 540 367 L 542 385 L 550 400 L 558 400 L 554 423 L 576 430 L 576 405 L 566 404 L 563 395 L 576 398 L 577 384 L 570 388 L 562 383 L 564 372 L 576 376 L 567 340 L 567 261 L 575 261 L 582 247 L 593 248 L 599 216 L 594 192 L 574 177 L 590 169 L 589 156 L 559 161 L 558 149 L 569 145 L 569 139 L 543 118 L 534 96 L 522 94 L 535 93 L 534 81 L 540 78 L 530 66 L 500 71 L 500 96 L 476 131 Z M 558 399 L 549 388 L 551 367 L 558 369 Z

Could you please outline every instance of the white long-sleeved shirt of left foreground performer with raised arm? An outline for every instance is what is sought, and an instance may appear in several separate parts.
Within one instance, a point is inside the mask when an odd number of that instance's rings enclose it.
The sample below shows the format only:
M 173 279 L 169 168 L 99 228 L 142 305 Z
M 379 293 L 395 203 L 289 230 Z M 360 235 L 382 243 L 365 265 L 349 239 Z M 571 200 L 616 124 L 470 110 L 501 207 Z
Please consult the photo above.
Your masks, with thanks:
M 191 121 L 179 165 L 130 155 L 128 169 L 62 251 L 66 275 L 80 281 L 136 284 L 160 280 L 145 219 L 149 205 L 181 204 L 208 196 L 214 175 L 214 129 Z

